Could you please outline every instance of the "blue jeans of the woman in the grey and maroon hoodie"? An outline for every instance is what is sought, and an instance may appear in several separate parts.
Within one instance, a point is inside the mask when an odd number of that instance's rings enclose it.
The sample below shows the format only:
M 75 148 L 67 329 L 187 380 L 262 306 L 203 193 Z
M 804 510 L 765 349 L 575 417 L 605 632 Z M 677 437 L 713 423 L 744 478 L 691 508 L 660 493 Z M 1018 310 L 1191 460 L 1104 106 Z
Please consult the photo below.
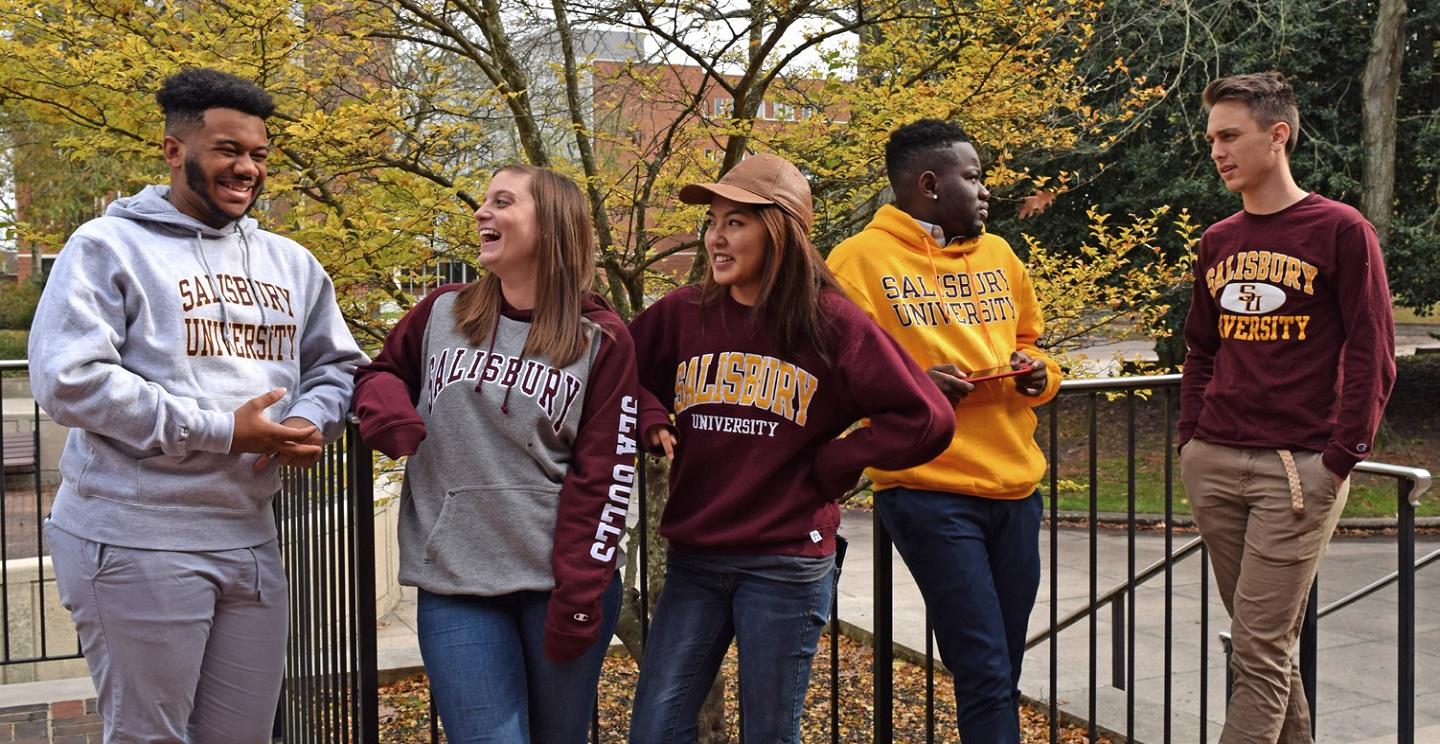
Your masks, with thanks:
M 567 663 L 544 658 L 549 591 L 498 597 L 419 591 L 420 656 L 451 744 L 580 744 L 621 610 L 616 576 L 603 597 L 600 640 Z

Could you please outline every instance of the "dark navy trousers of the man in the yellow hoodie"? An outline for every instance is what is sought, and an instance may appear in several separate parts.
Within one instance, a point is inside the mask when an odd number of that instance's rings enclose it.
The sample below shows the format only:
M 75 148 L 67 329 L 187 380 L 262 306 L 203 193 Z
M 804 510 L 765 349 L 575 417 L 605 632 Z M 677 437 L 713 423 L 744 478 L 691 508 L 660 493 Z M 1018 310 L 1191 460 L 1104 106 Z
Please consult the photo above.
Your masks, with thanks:
M 1020 668 L 1040 589 L 1040 491 L 1017 501 L 890 488 L 876 509 L 955 676 L 960 740 L 1020 743 Z

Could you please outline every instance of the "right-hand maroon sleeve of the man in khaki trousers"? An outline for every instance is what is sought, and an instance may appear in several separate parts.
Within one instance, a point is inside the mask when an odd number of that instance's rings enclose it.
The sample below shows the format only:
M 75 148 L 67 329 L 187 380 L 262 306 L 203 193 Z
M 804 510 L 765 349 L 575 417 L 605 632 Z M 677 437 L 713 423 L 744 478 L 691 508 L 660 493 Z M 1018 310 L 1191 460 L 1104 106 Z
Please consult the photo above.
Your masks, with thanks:
M 1341 400 L 1320 455 L 1345 478 L 1369 455 L 1395 383 L 1395 319 L 1380 239 L 1368 222 L 1344 229 L 1335 245 L 1336 304 L 1345 324 Z

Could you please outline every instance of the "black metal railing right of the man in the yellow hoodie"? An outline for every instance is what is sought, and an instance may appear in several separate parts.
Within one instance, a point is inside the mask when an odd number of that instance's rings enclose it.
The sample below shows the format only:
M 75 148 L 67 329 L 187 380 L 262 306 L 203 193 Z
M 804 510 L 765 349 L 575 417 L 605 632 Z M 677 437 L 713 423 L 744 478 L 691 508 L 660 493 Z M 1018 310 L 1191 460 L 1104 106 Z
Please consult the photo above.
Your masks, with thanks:
M 1081 720 L 1087 728 L 1087 734 L 1093 741 L 1099 734 L 1110 734 L 1117 738 L 1135 740 L 1136 727 L 1136 590 L 1146 581 L 1164 576 L 1164 610 L 1162 610 L 1162 679 L 1165 686 L 1162 691 L 1162 705 L 1161 705 L 1161 721 L 1162 728 L 1158 732 L 1159 740 L 1172 741 L 1174 740 L 1174 630 L 1176 626 L 1176 617 L 1174 614 L 1174 580 L 1175 580 L 1175 566 L 1191 557 L 1200 555 L 1198 571 L 1201 581 L 1200 593 L 1200 684 L 1197 695 L 1197 718 L 1198 718 L 1198 741 L 1207 741 L 1208 737 L 1208 721 L 1211 714 L 1211 704 L 1208 688 L 1208 661 L 1210 661 L 1210 587 L 1208 587 L 1208 553 L 1198 537 L 1191 538 L 1184 547 L 1175 550 L 1175 469 L 1174 469 L 1174 430 L 1175 430 L 1175 414 L 1178 410 L 1178 391 L 1179 391 L 1179 376 L 1156 376 L 1149 378 L 1104 378 L 1104 380 L 1074 380 L 1066 381 L 1061 386 L 1061 399 L 1048 406 L 1048 455 L 1050 455 L 1050 478 L 1048 486 L 1051 494 L 1060 491 L 1061 471 L 1064 466 L 1064 456 L 1061 448 L 1061 432 L 1066 429 L 1061 426 L 1060 419 L 1063 413 L 1063 406 L 1067 397 L 1079 397 L 1084 403 L 1084 448 L 1086 448 L 1086 472 L 1087 472 L 1087 512 L 1081 514 L 1089 535 L 1089 550 L 1087 563 L 1089 570 L 1089 602 L 1083 606 L 1074 609 L 1066 616 L 1060 614 L 1060 525 L 1066 521 L 1066 515 L 1060 509 L 1060 499 L 1051 498 L 1050 501 L 1050 623 L 1048 627 L 1034 635 L 1030 639 L 1027 648 L 1035 648 L 1040 643 L 1048 643 L 1048 691 L 1051 694 L 1045 701 L 1043 701 L 1050 711 L 1050 734 L 1051 741 L 1057 737 L 1057 722 L 1063 718 L 1063 711 L 1060 709 L 1058 695 L 1054 691 L 1058 689 L 1058 659 L 1061 656 L 1060 649 L 1060 635 L 1066 627 L 1080 622 L 1089 620 L 1089 635 L 1087 635 L 1087 663 L 1089 663 L 1089 694 L 1086 695 L 1083 715 L 1076 718 Z M 1099 403 L 1102 399 L 1109 399 L 1113 396 L 1122 396 L 1125 406 L 1125 479 L 1126 479 L 1126 511 L 1120 515 L 1120 522 L 1125 527 L 1125 547 L 1126 547 L 1126 579 L 1106 590 L 1099 586 L 1099 530 L 1102 524 L 1102 515 L 1099 514 L 1099 488 L 1102 478 L 1099 476 L 1099 442 L 1102 439 L 1100 432 L 1100 416 Z M 1136 409 L 1139 402 L 1146 399 L 1158 399 L 1159 407 L 1164 417 L 1164 435 L 1156 437 L 1162 442 L 1159 449 L 1162 455 L 1162 484 L 1164 484 L 1164 555 L 1151 566 L 1145 568 L 1138 568 L 1136 563 L 1136 531 L 1138 531 L 1138 514 L 1136 514 L 1136 465 L 1138 465 L 1138 426 L 1136 426 Z M 1365 473 L 1371 476 L 1390 478 L 1395 482 L 1397 488 L 1397 564 L 1398 568 L 1382 577 L 1369 586 L 1356 590 L 1348 597 L 1344 597 L 1331 606 L 1320 607 L 1318 600 L 1318 584 L 1312 586 L 1309 614 L 1306 617 L 1305 629 L 1302 632 L 1300 640 L 1300 668 L 1302 676 L 1306 682 L 1308 698 L 1312 708 L 1312 725 L 1320 709 L 1319 701 L 1316 699 L 1316 633 L 1318 620 L 1335 610 L 1358 602 L 1364 596 L 1369 596 L 1384 586 L 1391 583 L 1400 584 L 1400 610 L 1397 613 L 1397 679 L 1395 689 L 1392 691 L 1394 699 L 1397 701 L 1397 720 L 1395 732 L 1398 741 L 1413 743 L 1414 741 L 1414 699 L 1416 699 L 1416 682 L 1414 682 L 1414 636 L 1416 636 L 1416 593 L 1414 593 L 1414 577 L 1416 570 L 1434 561 L 1437 553 L 1431 553 L 1421 561 L 1414 560 L 1416 554 L 1416 515 L 1414 508 L 1418 505 L 1420 496 L 1430 486 L 1430 473 L 1420 468 L 1403 468 L 1385 463 L 1362 462 L 1356 473 Z M 1323 564 L 1320 567 L 1320 576 L 1325 574 Z M 1117 722 L 1110 722 L 1112 725 L 1102 725 L 1102 720 L 1097 709 L 1097 701 L 1100 698 L 1100 669 L 1099 669 L 1099 619 L 1100 613 L 1110 606 L 1110 682 L 1109 686 L 1115 689 L 1125 691 L 1125 714 L 1123 720 Z M 1227 685 L 1228 688 L 1228 685 Z M 1223 708 L 1223 704 L 1220 705 Z M 1188 738 L 1187 738 L 1188 740 Z

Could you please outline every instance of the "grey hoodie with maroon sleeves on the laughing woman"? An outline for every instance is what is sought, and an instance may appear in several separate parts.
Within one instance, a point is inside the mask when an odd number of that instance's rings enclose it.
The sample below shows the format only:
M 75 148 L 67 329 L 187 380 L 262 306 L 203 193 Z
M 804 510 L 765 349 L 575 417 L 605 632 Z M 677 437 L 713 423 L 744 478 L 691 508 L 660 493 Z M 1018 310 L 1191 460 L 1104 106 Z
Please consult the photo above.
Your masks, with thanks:
M 436 594 L 552 590 L 544 650 L 573 659 L 599 639 L 635 482 L 638 389 L 625 324 L 590 298 L 589 348 L 563 367 L 524 354 L 530 312 L 503 308 L 472 344 L 456 291 L 431 292 L 356 373 L 370 446 L 409 455 L 400 583 Z

